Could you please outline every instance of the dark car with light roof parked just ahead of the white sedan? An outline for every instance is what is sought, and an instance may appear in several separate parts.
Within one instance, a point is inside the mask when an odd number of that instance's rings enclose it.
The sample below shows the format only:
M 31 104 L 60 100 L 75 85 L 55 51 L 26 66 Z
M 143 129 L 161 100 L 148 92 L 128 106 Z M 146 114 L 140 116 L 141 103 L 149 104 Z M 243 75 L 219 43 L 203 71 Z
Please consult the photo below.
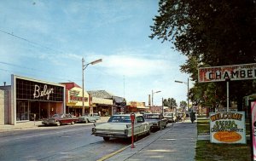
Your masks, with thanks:
M 144 117 L 147 122 L 152 123 L 151 130 L 166 128 L 167 119 L 161 113 L 145 113 Z

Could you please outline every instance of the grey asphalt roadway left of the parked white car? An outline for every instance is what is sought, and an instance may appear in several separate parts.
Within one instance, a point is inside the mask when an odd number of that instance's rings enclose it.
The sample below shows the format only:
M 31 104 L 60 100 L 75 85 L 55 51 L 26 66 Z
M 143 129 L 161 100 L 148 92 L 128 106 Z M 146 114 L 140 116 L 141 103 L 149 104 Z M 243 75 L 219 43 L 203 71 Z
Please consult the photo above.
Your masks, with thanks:
M 0 160 L 97 160 L 129 144 L 90 135 L 92 126 L 46 126 L 0 133 Z

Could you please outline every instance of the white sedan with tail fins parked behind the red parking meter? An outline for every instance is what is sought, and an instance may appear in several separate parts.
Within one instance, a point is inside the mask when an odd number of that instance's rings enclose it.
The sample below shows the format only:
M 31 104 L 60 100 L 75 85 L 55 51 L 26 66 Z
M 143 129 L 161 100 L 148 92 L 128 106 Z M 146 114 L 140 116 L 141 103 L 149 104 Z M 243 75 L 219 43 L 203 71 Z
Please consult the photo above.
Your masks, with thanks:
M 118 114 L 108 119 L 107 123 L 94 124 L 92 135 L 103 137 L 104 141 L 110 138 L 130 138 L 131 133 L 131 115 Z M 150 135 L 151 124 L 146 122 L 142 114 L 135 114 L 134 121 L 134 140 L 139 135 Z

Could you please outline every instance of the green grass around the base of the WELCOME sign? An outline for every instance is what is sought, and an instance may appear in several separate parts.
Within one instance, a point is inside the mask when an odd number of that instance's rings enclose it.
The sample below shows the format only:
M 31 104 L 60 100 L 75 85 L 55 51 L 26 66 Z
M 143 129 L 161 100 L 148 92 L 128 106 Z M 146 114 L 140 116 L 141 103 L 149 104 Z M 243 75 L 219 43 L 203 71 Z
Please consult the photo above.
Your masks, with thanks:
M 246 134 L 250 134 L 249 120 L 246 121 Z M 207 118 L 197 119 L 197 135 L 210 135 L 210 123 Z M 251 142 L 247 144 L 216 144 L 197 141 L 195 150 L 196 161 L 251 161 Z

